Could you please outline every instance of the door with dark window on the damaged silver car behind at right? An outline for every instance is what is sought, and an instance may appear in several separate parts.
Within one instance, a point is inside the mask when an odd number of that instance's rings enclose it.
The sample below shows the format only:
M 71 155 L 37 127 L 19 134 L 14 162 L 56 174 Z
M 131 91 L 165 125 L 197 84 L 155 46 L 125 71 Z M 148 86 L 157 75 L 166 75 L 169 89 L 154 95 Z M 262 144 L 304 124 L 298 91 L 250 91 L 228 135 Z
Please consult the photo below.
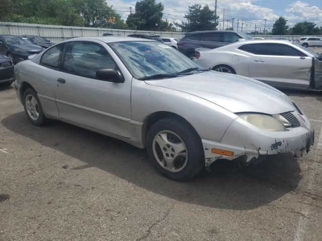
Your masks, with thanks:
M 299 50 L 275 43 L 246 44 L 239 49 L 250 53 L 251 78 L 271 85 L 309 86 L 312 58 Z

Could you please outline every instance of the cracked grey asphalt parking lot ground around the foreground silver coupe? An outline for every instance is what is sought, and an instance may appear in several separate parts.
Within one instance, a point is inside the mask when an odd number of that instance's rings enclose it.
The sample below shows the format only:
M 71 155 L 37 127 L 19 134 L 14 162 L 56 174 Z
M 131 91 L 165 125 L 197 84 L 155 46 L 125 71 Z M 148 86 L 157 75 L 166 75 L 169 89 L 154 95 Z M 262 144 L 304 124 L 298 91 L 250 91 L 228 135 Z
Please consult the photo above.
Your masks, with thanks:
M 145 150 L 58 121 L 32 126 L 0 87 L 0 240 L 321 240 L 322 93 L 285 92 L 312 120 L 309 154 L 175 182 Z

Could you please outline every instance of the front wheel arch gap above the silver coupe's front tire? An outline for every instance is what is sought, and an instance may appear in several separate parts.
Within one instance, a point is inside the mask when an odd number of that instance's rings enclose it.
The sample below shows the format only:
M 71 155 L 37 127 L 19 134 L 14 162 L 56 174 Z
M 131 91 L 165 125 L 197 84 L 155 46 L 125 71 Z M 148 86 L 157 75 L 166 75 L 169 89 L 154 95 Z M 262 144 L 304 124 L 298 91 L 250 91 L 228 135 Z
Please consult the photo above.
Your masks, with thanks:
M 149 130 L 151 129 L 151 127 L 153 126 L 154 123 L 156 123 L 157 121 L 159 121 L 160 119 L 164 119 L 164 118 L 169 118 L 169 117 L 176 117 L 176 118 L 180 118 L 182 119 L 184 122 L 186 122 L 191 129 L 198 135 L 200 142 L 201 142 L 201 137 L 199 136 L 198 132 L 196 131 L 196 129 L 187 121 L 187 119 L 185 119 L 184 117 L 182 117 L 179 114 L 176 114 L 174 112 L 170 112 L 170 111 L 156 111 L 153 112 L 151 114 L 149 114 L 143 123 L 142 126 L 142 142 L 143 145 L 145 147 L 146 145 L 146 137 L 147 137 L 147 133 L 149 132 Z

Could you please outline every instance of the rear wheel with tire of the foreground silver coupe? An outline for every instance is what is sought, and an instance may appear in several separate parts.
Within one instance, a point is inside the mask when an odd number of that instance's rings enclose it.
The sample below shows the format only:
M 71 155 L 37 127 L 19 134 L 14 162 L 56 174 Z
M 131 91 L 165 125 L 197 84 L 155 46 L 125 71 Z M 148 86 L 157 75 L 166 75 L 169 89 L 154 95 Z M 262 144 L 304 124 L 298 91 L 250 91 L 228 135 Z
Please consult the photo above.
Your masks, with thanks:
M 29 121 L 36 126 L 41 126 L 47 121 L 42 110 L 37 93 L 33 89 L 26 89 L 23 96 L 25 112 Z

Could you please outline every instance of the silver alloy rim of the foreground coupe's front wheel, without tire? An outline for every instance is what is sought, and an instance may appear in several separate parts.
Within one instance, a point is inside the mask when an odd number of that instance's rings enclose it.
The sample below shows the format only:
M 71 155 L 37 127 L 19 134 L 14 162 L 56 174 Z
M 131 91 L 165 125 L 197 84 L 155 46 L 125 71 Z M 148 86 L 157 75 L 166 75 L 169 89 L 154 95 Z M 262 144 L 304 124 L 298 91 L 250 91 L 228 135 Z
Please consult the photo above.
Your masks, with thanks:
M 152 150 L 158 164 L 169 172 L 180 172 L 187 165 L 186 144 L 172 131 L 157 133 L 153 138 Z

